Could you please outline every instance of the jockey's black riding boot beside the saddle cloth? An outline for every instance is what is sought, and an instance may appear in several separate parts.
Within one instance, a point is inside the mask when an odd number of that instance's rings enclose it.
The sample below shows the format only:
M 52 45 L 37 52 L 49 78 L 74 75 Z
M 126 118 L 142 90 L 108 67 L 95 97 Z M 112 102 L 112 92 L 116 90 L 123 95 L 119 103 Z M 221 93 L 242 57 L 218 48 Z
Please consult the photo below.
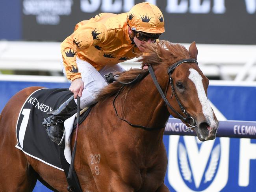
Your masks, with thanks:
M 52 141 L 61 144 L 64 137 L 64 121 L 75 114 L 76 109 L 77 105 L 74 101 L 74 96 L 72 96 L 62 103 L 57 110 L 47 112 L 51 116 L 46 118 L 42 124 Z

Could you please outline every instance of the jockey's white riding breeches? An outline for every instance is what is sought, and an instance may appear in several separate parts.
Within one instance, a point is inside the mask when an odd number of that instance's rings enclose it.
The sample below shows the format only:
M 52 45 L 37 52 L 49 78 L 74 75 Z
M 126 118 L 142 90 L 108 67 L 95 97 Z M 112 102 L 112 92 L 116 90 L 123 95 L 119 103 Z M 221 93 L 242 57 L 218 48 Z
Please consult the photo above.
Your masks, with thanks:
M 81 73 L 82 81 L 84 83 L 84 89 L 80 100 L 81 109 L 96 103 L 95 99 L 100 89 L 108 85 L 104 77 L 105 74 L 114 74 L 116 72 L 124 71 L 124 68 L 122 68 L 122 66 L 120 66 L 119 64 L 112 66 L 106 65 L 100 71 L 97 71 L 93 65 L 91 65 L 87 61 L 79 59 L 78 57 L 76 57 L 76 64 L 78 66 L 78 71 Z M 64 75 L 66 75 L 63 62 L 61 62 L 61 67 Z M 77 103 L 76 99 L 75 102 Z

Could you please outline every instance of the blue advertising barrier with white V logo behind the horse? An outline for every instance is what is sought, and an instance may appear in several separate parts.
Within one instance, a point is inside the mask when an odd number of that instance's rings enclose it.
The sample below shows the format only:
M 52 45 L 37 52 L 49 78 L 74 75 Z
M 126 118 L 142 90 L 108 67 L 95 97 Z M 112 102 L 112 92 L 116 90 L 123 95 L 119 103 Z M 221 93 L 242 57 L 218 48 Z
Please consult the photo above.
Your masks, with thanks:
M 69 83 L 0 81 L 4 93 L 0 95 L 0 111 L 11 96 L 29 86 L 67 88 Z M 229 129 L 233 137 L 247 134 L 250 138 L 228 138 L 224 135 L 200 142 L 194 136 L 164 135 L 168 156 L 165 184 L 171 191 L 256 191 L 255 95 L 255 83 L 233 86 L 210 82 L 208 98 L 221 122 L 219 134 L 226 134 L 221 130 Z M 185 129 L 182 126 L 179 120 L 170 118 L 165 130 L 182 131 Z M 33 191 L 50 190 L 38 182 Z

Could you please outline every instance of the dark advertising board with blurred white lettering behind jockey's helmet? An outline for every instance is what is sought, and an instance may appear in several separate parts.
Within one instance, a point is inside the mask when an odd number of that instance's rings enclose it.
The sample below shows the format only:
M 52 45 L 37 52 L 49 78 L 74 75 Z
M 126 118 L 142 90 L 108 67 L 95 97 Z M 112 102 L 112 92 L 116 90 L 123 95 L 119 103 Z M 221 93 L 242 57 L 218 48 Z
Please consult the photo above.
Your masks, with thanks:
M 158 6 L 163 13 L 165 33 L 161 39 L 182 43 L 256 44 L 255 0 L 147 1 Z M 141 2 L 145 1 L 2 1 L 0 24 L 7 27 L 0 30 L 0 39 L 63 41 L 82 20 L 102 12 L 128 12 Z

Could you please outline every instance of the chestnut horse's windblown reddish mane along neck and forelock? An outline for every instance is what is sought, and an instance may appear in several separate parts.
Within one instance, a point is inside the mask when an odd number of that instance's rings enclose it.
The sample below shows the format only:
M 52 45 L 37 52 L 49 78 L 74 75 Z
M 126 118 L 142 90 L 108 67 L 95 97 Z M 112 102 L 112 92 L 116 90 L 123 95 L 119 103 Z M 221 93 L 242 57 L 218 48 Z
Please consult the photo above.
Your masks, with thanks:
M 130 82 L 134 80 L 139 74 L 146 75 L 148 70 L 144 70 L 143 66 L 148 64 L 150 64 L 153 68 L 158 65 L 166 66 L 167 68 L 168 66 L 176 63 L 181 59 L 189 59 L 189 52 L 184 46 L 180 44 L 173 44 L 169 41 L 161 40 L 157 43 L 147 43 L 145 45 L 145 50 L 147 51 L 144 52 L 142 56 L 138 55 L 141 56 L 141 58 L 138 59 L 138 62 L 142 63 L 141 68 L 130 69 L 123 73 L 117 73 L 117 76 L 119 76 L 118 81 Z M 122 87 L 122 84 L 118 81 L 115 81 L 104 87 L 98 94 L 96 100 L 98 102 L 102 102 L 117 93 Z M 133 85 L 134 84 L 126 85 L 123 87 L 123 96 L 127 96 Z

